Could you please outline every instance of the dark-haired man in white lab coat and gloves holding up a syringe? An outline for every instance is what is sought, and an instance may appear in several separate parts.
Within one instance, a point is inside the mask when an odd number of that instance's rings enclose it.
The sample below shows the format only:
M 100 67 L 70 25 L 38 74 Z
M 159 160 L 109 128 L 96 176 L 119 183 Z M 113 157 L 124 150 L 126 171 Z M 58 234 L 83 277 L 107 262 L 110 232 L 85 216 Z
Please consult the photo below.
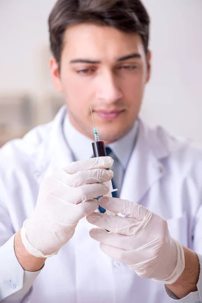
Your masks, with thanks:
M 138 119 L 148 31 L 139 0 L 55 5 L 51 73 L 68 114 L 1 149 L 2 301 L 201 300 L 202 152 Z M 90 159 L 89 104 L 114 164 Z

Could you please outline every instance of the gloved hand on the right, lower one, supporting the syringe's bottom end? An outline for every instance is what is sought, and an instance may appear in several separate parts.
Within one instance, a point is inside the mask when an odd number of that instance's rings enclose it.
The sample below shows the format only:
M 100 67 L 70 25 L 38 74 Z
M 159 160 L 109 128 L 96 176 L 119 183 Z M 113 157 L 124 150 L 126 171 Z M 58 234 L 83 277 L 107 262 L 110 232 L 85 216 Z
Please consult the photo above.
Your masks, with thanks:
M 109 257 L 129 265 L 140 277 L 172 284 L 185 266 L 182 245 L 174 240 L 166 220 L 128 200 L 102 197 L 99 205 L 129 218 L 92 213 L 90 236 Z

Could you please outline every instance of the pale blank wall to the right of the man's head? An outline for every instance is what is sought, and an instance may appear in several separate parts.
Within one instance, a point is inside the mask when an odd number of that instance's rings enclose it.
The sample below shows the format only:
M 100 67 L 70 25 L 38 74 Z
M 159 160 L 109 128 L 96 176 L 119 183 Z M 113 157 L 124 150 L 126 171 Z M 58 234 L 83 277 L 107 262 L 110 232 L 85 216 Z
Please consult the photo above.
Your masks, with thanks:
M 142 117 L 202 142 L 202 1 L 143 0 L 153 67 Z

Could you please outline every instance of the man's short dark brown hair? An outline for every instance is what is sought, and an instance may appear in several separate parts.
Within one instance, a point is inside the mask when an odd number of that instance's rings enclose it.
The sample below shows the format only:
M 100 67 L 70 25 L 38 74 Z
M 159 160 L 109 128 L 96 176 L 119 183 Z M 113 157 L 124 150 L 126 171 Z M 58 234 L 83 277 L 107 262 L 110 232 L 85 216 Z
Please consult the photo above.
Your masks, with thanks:
M 58 0 L 48 18 L 52 53 L 60 65 L 63 37 L 71 24 L 108 25 L 141 36 L 148 51 L 149 16 L 140 0 Z

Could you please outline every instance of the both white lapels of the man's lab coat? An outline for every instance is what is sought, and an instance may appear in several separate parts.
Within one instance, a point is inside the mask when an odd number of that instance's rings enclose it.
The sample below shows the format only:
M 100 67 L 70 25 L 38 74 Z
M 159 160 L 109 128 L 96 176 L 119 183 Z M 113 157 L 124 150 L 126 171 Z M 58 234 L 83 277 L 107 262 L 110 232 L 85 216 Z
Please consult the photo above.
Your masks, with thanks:
M 41 146 L 41 150 L 38 149 L 38 162 L 43 164 L 38 171 L 39 181 L 73 161 L 62 131 L 65 115 L 66 107 L 63 107 L 52 123 L 47 146 L 44 148 L 44 144 L 41 144 L 43 148 Z M 120 195 L 121 198 L 136 203 L 149 187 L 163 176 L 164 167 L 161 160 L 171 152 L 171 146 L 167 146 L 159 138 L 159 131 L 148 128 L 140 119 L 138 124 L 135 148 L 128 163 Z

